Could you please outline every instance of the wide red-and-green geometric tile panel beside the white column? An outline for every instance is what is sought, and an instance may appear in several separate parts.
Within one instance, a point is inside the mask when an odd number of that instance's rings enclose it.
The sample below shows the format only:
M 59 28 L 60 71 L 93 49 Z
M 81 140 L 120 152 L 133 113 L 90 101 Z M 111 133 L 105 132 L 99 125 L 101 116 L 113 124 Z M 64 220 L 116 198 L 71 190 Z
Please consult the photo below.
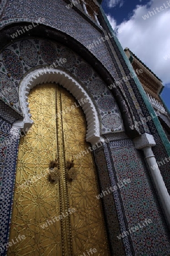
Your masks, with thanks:
M 127 179 L 131 181 L 129 185 L 118 189 L 117 194 L 114 193 L 117 212 L 121 209 L 124 214 L 120 220 L 120 233 L 146 219 L 152 220 L 150 226 L 145 226 L 122 240 L 131 237 L 135 255 L 141 255 L 141 252 L 143 255 L 169 255 L 170 240 L 167 224 L 158 198 L 155 196 L 154 186 L 142 152 L 134 148 L 133 142 L 130 145 L 130 139 L 113 141 L 107 143 L 107 146 L 110 152 L 109 156 L 112 154 L 112 169 L 109 170 L 111 181 L 116 183 Z M 118 213 L 118 216 L 121 214 Z M 123 227 L 121 222 L 125 220 L 126 226 Z M 117 236 L 120 233 L 117 233 Z M 127 245 L 127 242 L 124 244 Z

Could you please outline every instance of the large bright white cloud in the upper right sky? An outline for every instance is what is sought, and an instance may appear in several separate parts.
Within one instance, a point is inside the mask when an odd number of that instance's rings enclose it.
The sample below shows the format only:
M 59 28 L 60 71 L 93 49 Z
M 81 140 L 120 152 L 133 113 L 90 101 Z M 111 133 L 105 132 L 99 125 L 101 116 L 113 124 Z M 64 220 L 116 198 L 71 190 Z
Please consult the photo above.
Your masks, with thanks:
M 164 5 L 167 7 L 165 9 Z M 159 12 L 156 8 L 164 7 Z M 154 11 L 154 15 L 148 11 Z M 149 14 L 150 18 L 143 19 L 142 16 Z M 138 5 L 133 15 L 120 26 L 116 27 L 116 20 L 110 15 L 109 21 L 113 29 L 118 28 L 121 33 L 117 37 L 123 48 L 128 47 L 139 57 L 163 82 L 170 83 L 170 57 L 165 60 L 164 56 L 170 53 L 170 1 L 151 1 L 148 5 Z

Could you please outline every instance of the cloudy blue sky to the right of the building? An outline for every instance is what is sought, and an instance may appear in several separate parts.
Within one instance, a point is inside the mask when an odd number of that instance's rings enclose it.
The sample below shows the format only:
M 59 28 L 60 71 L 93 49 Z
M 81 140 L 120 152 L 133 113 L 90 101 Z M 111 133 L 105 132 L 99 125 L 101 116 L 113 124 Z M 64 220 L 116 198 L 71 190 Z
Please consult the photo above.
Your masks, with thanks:
M 170 109 L 170 0 L 103 0 L 102 7 L 122 47 L 163 81 L 161 97 Z

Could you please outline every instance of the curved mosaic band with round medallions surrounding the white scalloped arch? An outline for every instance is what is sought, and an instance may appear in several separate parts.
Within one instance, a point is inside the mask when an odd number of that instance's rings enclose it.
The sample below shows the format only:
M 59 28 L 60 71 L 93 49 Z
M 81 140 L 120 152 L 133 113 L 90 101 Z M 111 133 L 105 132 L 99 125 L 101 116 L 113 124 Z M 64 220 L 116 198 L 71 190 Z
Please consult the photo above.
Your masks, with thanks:
M 102 133 L 124 130 L 121 114 L 112 93 L 94 69 L 70 49 L 47 40 L 24 39 L 3 49 L 1 58 L 3 65 L 0 68 L 0 96 L 8 104 L 13 102 L 13 108 L 17 112 L 22 113 L 18 97 L 22 77 L 35 68 L 55 68 L 56 65 L 56 68 L 61 68 L 75 77 L 90 94 L 98 109 Z M 67 61 L 59 62 L 60 59 Z

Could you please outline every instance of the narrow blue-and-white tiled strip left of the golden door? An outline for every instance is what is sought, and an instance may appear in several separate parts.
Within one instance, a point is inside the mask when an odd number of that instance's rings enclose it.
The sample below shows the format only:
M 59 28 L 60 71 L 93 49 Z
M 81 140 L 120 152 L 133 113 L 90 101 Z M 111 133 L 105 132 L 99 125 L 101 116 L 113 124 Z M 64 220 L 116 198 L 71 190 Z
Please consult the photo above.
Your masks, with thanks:
M 4 125 L 5 127 L 5 125 Z M 9 125 L 5 128 L 9 132 Z M 16 162 L 18 158 L 19 130 L 12 128 L 8 143 L 5 147 L 5 159 L 2 167 L 2 185 L 0 192 L 0 246 L 5 245 L 9 239 L 9 229 L 14 197 L 14 185 L 16 175 Z M 2 161 L 1 156 L 1 161 Z M 0 251 L 1 256 L 6 255 L 6 250 Z

